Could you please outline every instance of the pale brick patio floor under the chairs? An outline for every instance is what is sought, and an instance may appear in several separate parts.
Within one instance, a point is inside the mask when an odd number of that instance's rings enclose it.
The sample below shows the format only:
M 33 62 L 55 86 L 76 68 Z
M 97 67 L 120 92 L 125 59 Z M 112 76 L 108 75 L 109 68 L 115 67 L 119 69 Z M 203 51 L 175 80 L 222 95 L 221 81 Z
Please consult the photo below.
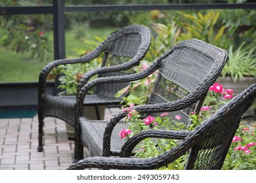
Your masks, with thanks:
M 110 119 L 119 108 L 106 108 Z M 0 119 L 0 170 L 67 169 L 74 158 L 74 141 L 68 140 L 65 122 L 45 118 L 44 150 L 37 152 L 38 120 L 34 118 Z M 90 154 L 85 148 L 85 157 Z

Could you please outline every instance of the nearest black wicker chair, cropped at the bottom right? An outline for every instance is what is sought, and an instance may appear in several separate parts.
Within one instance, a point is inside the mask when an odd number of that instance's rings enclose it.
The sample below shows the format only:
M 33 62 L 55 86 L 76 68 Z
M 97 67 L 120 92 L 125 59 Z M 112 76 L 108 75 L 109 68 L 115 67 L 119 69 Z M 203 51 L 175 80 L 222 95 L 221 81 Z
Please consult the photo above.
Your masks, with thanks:
M 256 97 L 256 84 L 240 93 L 194 131 L 144 131 L 135 135 L 123 146 L 121 156 L 82 159 L 68 169 L 158 169 L 189 152 L 185 169 L 221 169 L 232 138 L 240 124 L 242 114 Z M 141 107 L 140 107 L 141 108 Z M 181 109 L 173 106 L 172 109 Z M 131 150 L 147 137 L 182 139 L 177 146 L 157 157 L 129 158 Z

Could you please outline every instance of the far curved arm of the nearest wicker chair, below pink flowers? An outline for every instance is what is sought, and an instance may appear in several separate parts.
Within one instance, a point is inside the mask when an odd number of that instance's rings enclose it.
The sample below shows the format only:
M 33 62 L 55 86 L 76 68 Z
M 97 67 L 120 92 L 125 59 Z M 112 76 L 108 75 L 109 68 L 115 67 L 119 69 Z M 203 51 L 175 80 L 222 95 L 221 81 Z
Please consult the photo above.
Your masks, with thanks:
M 128 141 L 125 142 L 125 144 L 121 148 L 120 157 L 129 158 L 129 156 L 131 156 L 133 148 L 135 148 L 135 146 L 139 144 L 139 142 L 143 141 L 146 138 L 183 140 L 189 134 L 190 131 L 164 131 L 153 129 L 148 131 L 142 131 L 141 133 L 138 133 L 137 135 L 131 137 Z

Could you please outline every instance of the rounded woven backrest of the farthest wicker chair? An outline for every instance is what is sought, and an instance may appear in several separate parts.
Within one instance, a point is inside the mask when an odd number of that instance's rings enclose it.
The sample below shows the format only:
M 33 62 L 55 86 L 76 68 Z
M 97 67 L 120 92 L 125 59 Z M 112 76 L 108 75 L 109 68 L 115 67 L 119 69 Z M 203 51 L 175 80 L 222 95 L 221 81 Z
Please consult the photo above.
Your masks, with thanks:
M 116 31 L 106 40 L 102 67 L 110 67 L 129 63 L 130 68 L 139 65 L 150 46 L 151 35 L 143 25 L 129 25 Z M 101 73 L 98 77 L 121 76 L 133 73 L 133 69 L 126 71 Z M 115 97 L 116 93 L 129 83 L 102 84 L 95 88 L 95 93 Z

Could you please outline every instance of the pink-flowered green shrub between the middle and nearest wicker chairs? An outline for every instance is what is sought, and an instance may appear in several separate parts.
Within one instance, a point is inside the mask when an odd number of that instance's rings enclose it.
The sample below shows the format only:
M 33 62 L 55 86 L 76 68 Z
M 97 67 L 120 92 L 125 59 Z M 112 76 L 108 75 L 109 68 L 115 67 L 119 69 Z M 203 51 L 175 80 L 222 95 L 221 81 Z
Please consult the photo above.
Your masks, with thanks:
M 123 129 L 119 135 L 121 139 L 127 140 L 141 131 L 150 129 L 165 129 L 165 130 L 193 130 L 204 120 L 209 118 L 216 110 L 219 109 L 219 105 L 226 103 L 233 96 L 233 90 L 224 89 L 219 83 L 213 84 L 209 88 L 208 95 L 211 97 L 211 105 L 203 106 L 200 114 L 197 116 L 194 112 L 191 112 L 190 125 L 182 123 L 182 116 L 176 115 L 173 118 L 168 116 L 167 112 L 160 114 L 160 116 L 146 116 L 143 118 L 139 112 L 133 110 L 133 103 L 130 103 L 130 107 L 123 109 L 127 111 L 126 122 L 129 125 L 127 129 Z M 256 169 L 256 125 L 247 127 L 244 124 L 240 125 L 230 150 L 224 161 L 223 169 Z M 177 146 L 178 141 L 175 139 L 144 139 L 136 147 L 133 153 L 140 158 L 150 158 L 157 156 L 167 150 L 170 150 L 173 146 Z M 177 159 L 173 163 L 170 163 L 167 167 L 161 169 L 184 169 L 188 153 L 181 158 Z

